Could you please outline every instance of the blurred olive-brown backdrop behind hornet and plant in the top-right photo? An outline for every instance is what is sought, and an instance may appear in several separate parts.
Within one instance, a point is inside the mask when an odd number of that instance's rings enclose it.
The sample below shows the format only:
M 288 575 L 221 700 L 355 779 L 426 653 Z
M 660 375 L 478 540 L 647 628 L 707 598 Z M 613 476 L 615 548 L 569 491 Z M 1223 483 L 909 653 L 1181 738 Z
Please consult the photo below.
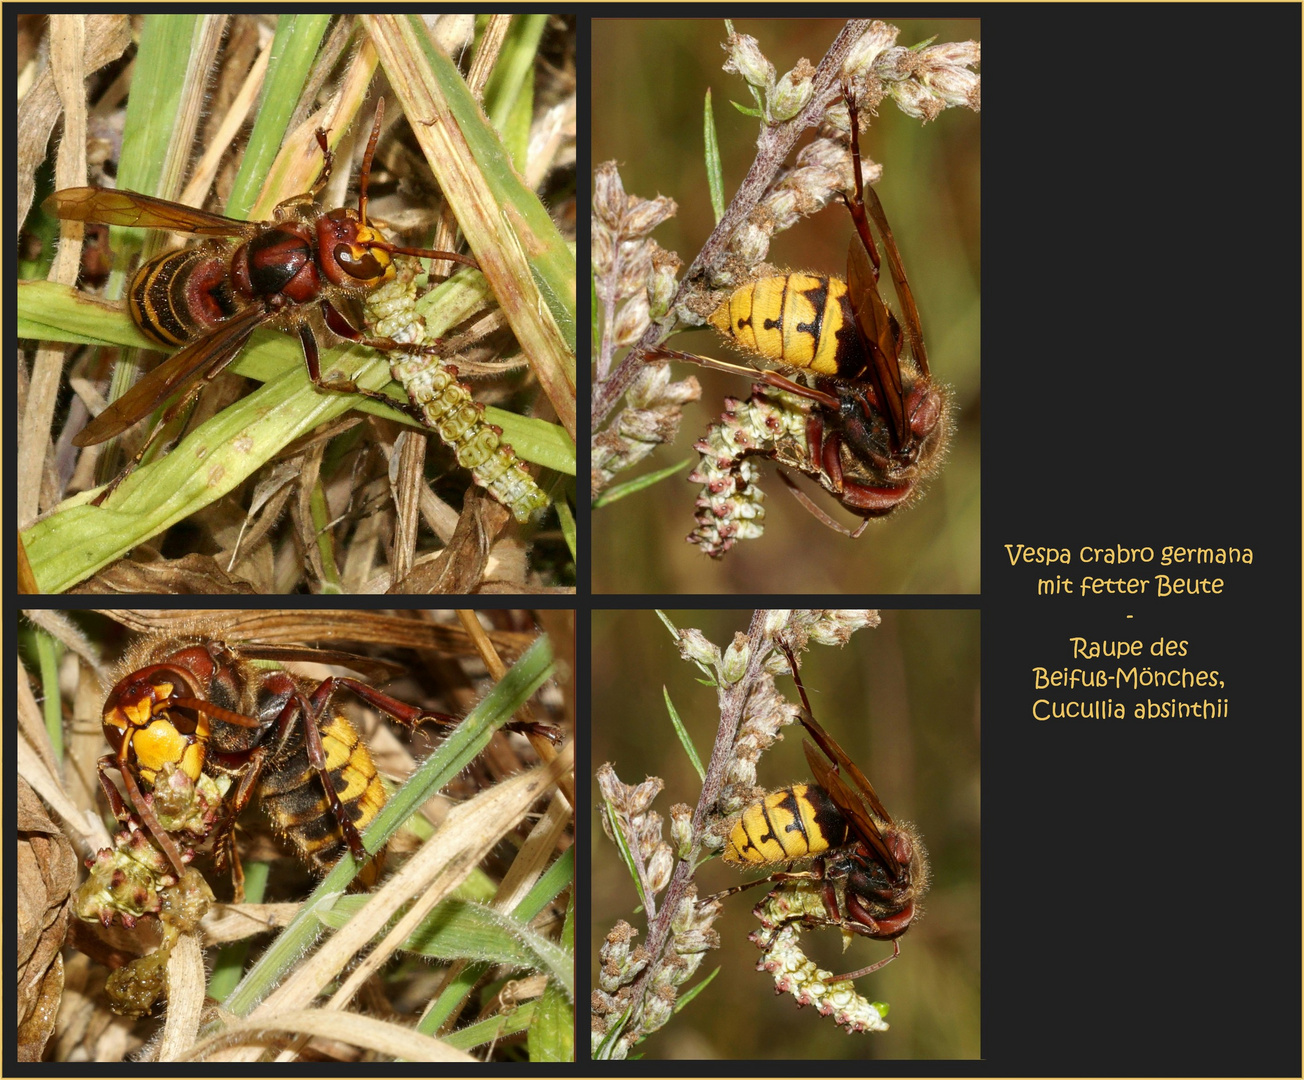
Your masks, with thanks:
M 981 39 L 977 21 L 893 20 L 897 44 L 938 35 L 939 42 Z M 818 64 L 837 37 L 837 20 L 737 20 L 782 74 L 805 56 Z M 726 202 L 755 157 L 758 121 L 729 103 L 751 106 L 741 78 L 725 74 L 720 20 L 593 21 L 593 162 L 617 160 L 626 192 L 664 194 L 679 205 L 653 237 L 685 266 L 715 219 L 703 167 L 703 99 L 712 91 Z M 915 506 L 871 522 L 859 540 L 825 528 L 762 464 L 765 535 L 715 562 L 685 543 L 699 485 L 682 473 L 593 514 L 596 592 L 978 592 L 979 539 L 979 157 L 981 116 L 952 108 L 921 125 L 884 102 L 862 130 L 862 151 L 884 164 L 879 197 L 887 209 L 919 303 L 934 378 L 955 387 L 957 430 L 940 476 Z M 812 138 L 807 136 L 799 145 Z M 780 233 L 769 261 L 792 270 L 845 277 L 854 235 L 846 210 L 833 203 Z M 888 287 L 889 303 L 896 300 Z M 711 330 L 673 335 L 687 352 L 738 359 Z M 685 410 L 673 446 L 661 447 L 634 475 L 698 454 L 692 443 L 719 419 L 724 398 L 746 398 L 750 382 L 678 364 L 675 377 L 696 376 L 700 402 Z M 617 483 L 630 479 L 622 473 Z M 842 524 L 837 502 L 805 477 L 803 489 Z M 811 558 L 811 552 L 819 552 Z

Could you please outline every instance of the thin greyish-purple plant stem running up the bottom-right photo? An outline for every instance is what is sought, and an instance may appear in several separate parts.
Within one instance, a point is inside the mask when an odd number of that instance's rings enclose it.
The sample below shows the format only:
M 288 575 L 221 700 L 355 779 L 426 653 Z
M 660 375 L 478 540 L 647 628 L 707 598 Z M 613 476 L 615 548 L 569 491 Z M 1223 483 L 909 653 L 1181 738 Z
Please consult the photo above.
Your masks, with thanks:
M 755 610 L 751 616 L 751 625 L 747 627 L 747 669 L 735 683 L 719 690 L 720 699 L 720 727 L 716 729 L 716 742 L 711 750 L 711 763 L 707 766 L 707 776 L 702 784 L 702 797 L 692 811 L 692 847 L 687 858 L 681 858 L 674 866 L 670 884 L 666 887 L 665 897 L 661 901 L 661 910 L 648 926 L 647 950 L 652 961 L 647 965 L 630 995 L 630 1016 L 638 1016 L 643 1008 L 643 999 L 647 997 L 652 977 L 659 967 L 657 959 L 665 948 L 665 942 L 670 934 L 670 923 L 674 921 L 679 904 L 687 892 L 689 883 L 698 867 L 698 854 L 702 848 L 702 832 L 707 824 L 707 817 L 715 810 L 720 798 L 720 789 L 725 783 L 725 773 L 733 757 L 734 737 L 738 734 L 738 725 L 742 723 L 743 710 L 747 698 L 751 697 L 756 680 L 762 674 L 765 659 L 772 652 L 771 643 L 765 637 L 765 618 L 769 613 Z

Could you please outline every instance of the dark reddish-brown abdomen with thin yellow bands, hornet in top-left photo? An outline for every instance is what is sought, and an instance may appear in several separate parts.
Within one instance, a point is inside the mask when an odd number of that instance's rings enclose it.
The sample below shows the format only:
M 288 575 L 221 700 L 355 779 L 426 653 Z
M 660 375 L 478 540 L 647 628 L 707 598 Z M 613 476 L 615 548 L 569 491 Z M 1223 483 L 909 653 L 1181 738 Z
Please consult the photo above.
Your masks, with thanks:
M 197 244 L 143 263 L 126 293 L 128 310 L 145 337 L 181 346 L 243 307 L 231 284 L 228 244 Z

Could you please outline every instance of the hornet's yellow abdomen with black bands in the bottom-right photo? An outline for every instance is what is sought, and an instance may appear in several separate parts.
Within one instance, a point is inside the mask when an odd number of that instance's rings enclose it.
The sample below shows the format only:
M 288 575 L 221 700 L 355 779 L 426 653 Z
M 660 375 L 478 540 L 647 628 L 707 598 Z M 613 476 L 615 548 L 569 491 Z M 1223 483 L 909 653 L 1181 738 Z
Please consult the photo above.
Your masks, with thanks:
M 841 847 L 848 833 L 846 818 L 823 788 L 793 784 L 742 811 L 729 833 L 725 862 L 767 866 L 806 858 Z

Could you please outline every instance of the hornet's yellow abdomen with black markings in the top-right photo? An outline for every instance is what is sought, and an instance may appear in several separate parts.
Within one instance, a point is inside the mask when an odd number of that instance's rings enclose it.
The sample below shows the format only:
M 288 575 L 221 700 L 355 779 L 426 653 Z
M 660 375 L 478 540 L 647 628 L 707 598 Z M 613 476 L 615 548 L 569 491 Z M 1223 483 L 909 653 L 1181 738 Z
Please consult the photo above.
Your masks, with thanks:
M 865 370 L 846 282 L 837 278 L 759 278 L 730 293 L 709 321 L 739 348 L 792 368 L 842 378 Z

